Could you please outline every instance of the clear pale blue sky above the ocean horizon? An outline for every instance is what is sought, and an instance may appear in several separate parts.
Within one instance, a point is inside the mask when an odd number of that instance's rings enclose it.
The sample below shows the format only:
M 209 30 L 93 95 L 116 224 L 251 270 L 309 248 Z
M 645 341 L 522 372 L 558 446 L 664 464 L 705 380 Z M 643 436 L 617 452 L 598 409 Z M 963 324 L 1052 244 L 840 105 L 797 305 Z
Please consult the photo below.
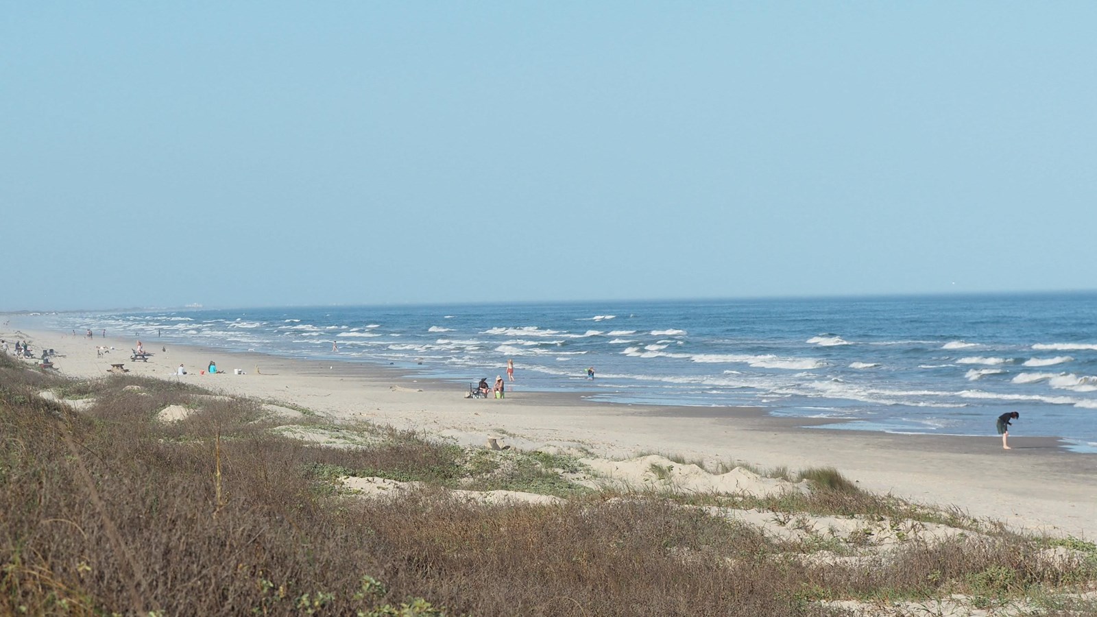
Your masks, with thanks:
M 3 2 L 0 310 L 1097 289 L 1095 2 Z

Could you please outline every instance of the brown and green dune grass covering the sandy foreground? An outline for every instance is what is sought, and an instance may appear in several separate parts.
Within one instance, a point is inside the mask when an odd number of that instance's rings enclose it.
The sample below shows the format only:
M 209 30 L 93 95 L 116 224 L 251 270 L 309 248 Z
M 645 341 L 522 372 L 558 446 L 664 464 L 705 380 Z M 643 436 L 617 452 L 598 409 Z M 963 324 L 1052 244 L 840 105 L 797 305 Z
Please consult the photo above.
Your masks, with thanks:
M 344 434 L 336 447 L 275 430 L 286 423 L 262 404 L 0 357 L 0 614 L 823 616 L 955 594 L 1097 610 L 1075 594 L 1097 582 L 1093 542 L 873 495 L 833 469 L 783 470 L 812 490 L 769 497 L 591 489 L 570 480 L 587 471 L 574 457 L 299 420 Z M 161 422 L 168 406 L 191 413 Z M 341 490 L 348 476 L 418 484 L 362 498 Z M 484 505 L 457 487 L 562 500 Z M 710 506 L 762 509 L 796 535 Z M 965 532 L 872 552 L 816 515 Z

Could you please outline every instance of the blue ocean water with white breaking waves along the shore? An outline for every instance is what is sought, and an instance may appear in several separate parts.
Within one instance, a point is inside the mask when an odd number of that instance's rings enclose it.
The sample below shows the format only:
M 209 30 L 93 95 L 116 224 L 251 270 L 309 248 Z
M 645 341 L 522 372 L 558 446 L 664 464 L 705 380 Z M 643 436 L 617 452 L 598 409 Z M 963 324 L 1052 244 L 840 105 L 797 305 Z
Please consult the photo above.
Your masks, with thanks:
M 1097 294 L 324 306 L 57 314 L 63 329 L 395 364 L 464 389 L 760 406 L 827 428 L 1064 438 L 1097 451 Z M 157 338 L 159 336 L 159 338 Z M 332 343 L 338 351 L 332 351 Z M 588 380 L 593 367 L 596 378 Z M 457 385 L 460 384 L 460 385 Z

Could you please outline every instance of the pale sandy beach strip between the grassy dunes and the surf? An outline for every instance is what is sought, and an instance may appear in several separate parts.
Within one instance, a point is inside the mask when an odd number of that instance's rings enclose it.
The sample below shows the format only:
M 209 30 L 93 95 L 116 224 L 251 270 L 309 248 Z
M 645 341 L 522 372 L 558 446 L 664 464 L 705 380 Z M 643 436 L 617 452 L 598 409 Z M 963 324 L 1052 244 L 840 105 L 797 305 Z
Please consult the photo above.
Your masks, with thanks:
M 27 329 L 24 326 L 30 326 Z M 27 340 L 35 355 L 57 352 L 56 368 L 73 378 L 105 378 L 123 363 L 131 374 L 178 379 L 226 394 L 307 407 L 336 420 L 370 420 L 484 445 L 488 438 L 522 449 L 581 448 L 599 456 L 678 455 L 745 462 L 764 469 L 834 467 L 861 487 L 918 503 L 954 505 L 976 516 L 1051 535 L 1097 538 L 1097 455 L 1067 452 L 1055 439 L 1010 435 L 1010 451 L 986 437 L 822 430 L 802 418 L 755 408 L 615 405 L 581 395 L 523 392 L 465 399 L 467 385 L 407 375 L 395 368 L 318 362 L 145 340 L 152 356 L 132 361 L 131 339 L 95 333 L 45 332 L 20 315 L 0 338 Z M 113 347 L 98 354 L 97 347 Z M 215 360 L 225 374 L 202 374 Z M 30 360 L 26 360 L 30 363 Z M 178 375 L 182 364 L 185 375 Z M 240 374 L 237 374 L 237 371 Z M 499 371 L 502 372 L 501 370 Z

